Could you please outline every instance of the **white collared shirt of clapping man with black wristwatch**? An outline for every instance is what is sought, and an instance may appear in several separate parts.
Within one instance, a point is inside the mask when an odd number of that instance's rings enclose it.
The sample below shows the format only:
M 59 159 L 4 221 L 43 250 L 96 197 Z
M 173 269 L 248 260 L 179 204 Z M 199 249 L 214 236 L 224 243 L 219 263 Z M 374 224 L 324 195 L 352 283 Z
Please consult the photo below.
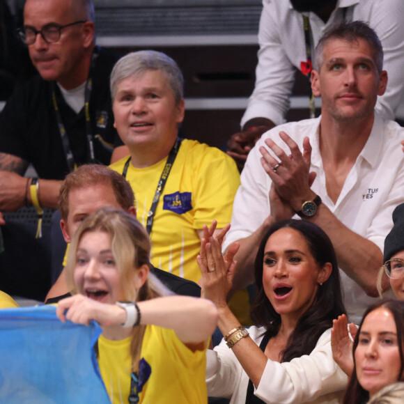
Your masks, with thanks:
M 327 195 L 325 173 L 318 145 L 320 118 L 286 123 L 263 134 L 251 150 L 242 171 L 241 185 L 235 196 L 231 229 L 224 249 L 231 242 L 246 238 L 263 224 L 270 215 L 269 192 L 271 179 L 261 166 L 260 146 L 270 138 L 289 150 L 279 138 L 283 130 L 295 139 L 300 148 L 304 137 L 309 137 L 311 171 L 317 177 L 311 189 L 320 195 L 329 210 L 350 230 L 374 242 L 383 251 L 384 238 L 393 226 L 391 215 L 396 205 L 404 202 L 404 153 L 400 142 L 404 128 L 393 121 L 384 121 L 375 114 L 371 135 L 355 165 L 345 180 L 339 199 L 334 204 Z M 295 218 L 299 217 L 295 215 Z M 350 321 L 358 323 L 366 307 L 375 302 L 360 286 L 340 270 L 344 303 Z

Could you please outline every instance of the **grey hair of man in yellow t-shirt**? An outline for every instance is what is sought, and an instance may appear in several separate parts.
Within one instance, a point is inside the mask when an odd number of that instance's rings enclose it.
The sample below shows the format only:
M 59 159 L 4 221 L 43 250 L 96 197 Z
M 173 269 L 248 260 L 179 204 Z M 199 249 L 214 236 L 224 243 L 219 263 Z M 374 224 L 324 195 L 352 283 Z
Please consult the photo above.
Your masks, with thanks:
M 131 52 L 116 62 L 110 81 L 112 99 L 114 100 L 116 87 L 121 81 L 127 77 L 137 77 L 147 70 L 159 70 L 164 75 L 176 104 L 184 98 L 184 77 L 176 61 L 162 52 L 143 50 Z

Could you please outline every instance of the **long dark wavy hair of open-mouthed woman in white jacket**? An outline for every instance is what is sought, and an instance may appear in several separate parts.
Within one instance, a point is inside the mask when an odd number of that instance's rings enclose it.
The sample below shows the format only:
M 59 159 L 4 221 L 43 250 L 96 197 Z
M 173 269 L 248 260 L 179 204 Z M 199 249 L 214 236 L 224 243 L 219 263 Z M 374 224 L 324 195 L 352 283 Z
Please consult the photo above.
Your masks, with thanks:
M 281 352 L 281 362 L 290 362 L 293 358 L 309 355 L 318 339 L 326 329 L 332 327 L 332 320 L 345 313 L 343 306 L 339 269 L 332 242 L 327 234 L 316 224 L 305 220 L 288 219 L 274 224 L 261 240 L 255 261 L 255 281 L 257 294 L 251 305 L 251 319 L 256 325 L 263 325 L 265 334 L 276 336 L 281 327 L 281 316 L 275 311 L 263 288 L 263 262 L 265 244 L 268 238 L 281 228 L 293 228 L 306 240 L 311 255 L 319 267 L 332 264 L 332 272 L 317 290 L 313 304 L 307 309 L 292 334 L 285 350 Z

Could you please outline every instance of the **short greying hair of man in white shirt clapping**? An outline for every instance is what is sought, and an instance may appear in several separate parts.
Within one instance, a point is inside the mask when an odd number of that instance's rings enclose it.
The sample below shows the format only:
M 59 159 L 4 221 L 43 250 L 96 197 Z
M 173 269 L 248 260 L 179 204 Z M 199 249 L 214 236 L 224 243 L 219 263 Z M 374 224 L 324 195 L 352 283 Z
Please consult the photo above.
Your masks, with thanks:
M 329 40 L 339 39 L 347 42 L 357 42 L 359 39 L 365 40 L 373 49 L 373 60 L 376 63 L 378 72 L 383 70 L 383 47 L 378 35 L 371 29 L 366 22 L 352 21 L 342 22 L 336 26 L 332 26 L 318 41 L 316 46 L 316 70 L 320 72 L 323 65 L 324 47 Z

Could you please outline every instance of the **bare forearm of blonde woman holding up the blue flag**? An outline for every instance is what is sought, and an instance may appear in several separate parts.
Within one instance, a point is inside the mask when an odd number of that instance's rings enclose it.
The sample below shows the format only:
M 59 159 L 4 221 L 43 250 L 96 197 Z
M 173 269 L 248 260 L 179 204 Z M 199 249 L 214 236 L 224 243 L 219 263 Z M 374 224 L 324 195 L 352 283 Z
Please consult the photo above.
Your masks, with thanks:
M 188 296 L 138 302 L 141 324 L 173 329 L 183 343 L 206 341 L 215 330 L 217 309 L 209 300 Z

